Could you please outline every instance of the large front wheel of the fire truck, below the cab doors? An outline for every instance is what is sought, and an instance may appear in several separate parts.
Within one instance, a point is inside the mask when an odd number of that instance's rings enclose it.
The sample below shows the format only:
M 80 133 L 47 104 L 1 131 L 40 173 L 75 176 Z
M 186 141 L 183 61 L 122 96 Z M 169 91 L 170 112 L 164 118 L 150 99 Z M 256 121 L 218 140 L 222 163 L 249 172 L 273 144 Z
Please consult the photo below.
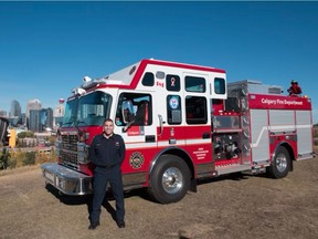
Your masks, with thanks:
M 150 175 L 148 193 L 160 204 L 181 200 L 190 188 L 190 170 L 182 158 L 162 155 Z

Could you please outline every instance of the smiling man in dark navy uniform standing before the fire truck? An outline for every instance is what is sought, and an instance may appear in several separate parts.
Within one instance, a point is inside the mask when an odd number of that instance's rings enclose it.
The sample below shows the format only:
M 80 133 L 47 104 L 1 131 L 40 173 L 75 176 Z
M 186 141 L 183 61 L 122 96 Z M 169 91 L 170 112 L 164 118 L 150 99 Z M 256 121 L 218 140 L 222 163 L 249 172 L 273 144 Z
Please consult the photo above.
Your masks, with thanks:
M 89 230 L 94 230 L 99 226 L 100 207 L 108 181 L 116 200 L 117 226 L 125 228 L 124 190 L 120 167 L 125 158 L 126 147 L 123 137 L 114 133 L 113 119 L 107 118 L 103 126 L 104 132 L 94 137 L 89 147 L 89 159 L 95 165 Z

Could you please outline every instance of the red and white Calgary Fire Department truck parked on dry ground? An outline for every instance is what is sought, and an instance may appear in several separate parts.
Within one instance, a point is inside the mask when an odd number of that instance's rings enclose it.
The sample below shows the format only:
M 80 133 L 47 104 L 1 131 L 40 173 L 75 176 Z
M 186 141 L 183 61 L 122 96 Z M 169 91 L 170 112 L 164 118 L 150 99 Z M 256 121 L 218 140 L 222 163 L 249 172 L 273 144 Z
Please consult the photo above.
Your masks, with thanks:
M 141 60 L 73 90 L 45 181 L 66 195 L 92 193 L 88 148 L 114 119 L 126 143 L 125 190 L 147 187 L 161 204 L 197 190 L 200 178 L 293 170 L 314 154 L 311 102 L 258 81 L 226 84 L 224 70 Z

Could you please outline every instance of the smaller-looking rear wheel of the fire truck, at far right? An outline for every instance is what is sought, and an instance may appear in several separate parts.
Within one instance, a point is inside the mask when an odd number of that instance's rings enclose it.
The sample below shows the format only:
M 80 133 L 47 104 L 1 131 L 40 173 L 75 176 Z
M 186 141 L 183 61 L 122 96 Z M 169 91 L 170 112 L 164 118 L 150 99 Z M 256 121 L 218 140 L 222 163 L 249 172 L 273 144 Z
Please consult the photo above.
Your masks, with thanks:
M 268 167 L 268 175 L 273 178 L 283 178 L 290 170 L 290 155 L 288 150 L 279 146 L 275 152 L 272 165 Z

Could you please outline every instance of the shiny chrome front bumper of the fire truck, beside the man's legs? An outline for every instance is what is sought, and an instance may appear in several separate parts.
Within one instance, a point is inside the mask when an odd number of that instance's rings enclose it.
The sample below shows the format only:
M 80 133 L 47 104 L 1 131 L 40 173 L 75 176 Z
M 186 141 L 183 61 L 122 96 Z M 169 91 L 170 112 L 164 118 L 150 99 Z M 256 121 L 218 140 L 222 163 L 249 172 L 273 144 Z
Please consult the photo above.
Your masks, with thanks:
M 92 176 L 70 169 L 56 163 L 41 165 L 44 179 L 65 195 L 92 194 Z

